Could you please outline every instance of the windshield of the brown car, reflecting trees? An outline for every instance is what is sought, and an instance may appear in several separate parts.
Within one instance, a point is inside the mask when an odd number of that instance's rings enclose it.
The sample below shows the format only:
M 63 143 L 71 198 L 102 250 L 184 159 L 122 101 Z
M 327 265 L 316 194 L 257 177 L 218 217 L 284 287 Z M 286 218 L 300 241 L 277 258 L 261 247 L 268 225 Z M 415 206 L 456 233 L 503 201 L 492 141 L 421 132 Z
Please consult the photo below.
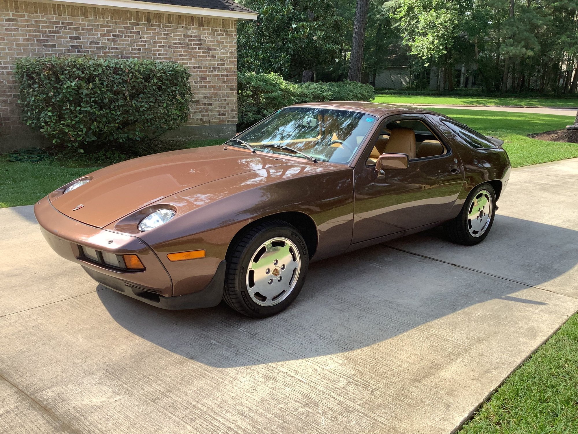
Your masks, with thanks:
M 303 159 L 310 156 L 320 161 L 347 164 L 375 120 L 375 116 L 347 110 L 289 107 L 235 139 L 246 142 L 259 152 Z M 246 148 L 246 145 L 234 141 L 229 141 L 228 145 Z M 286 148 L 280 149 L 283 146 Z

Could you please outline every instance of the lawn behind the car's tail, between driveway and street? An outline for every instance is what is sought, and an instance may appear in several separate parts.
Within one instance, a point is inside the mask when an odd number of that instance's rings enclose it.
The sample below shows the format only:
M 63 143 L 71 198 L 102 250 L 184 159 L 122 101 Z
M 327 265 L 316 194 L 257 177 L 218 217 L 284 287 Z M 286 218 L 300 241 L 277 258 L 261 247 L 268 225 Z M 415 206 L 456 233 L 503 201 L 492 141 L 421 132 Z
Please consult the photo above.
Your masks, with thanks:
M 494 135 L 506 143 L 512 167 L 578 157 L 578 144 L 547 142 L 527 137 L 531 133 L 561 130 L 572 124 L 572 116 L 535 113 L 493 112 L 486 110 L 433 109 L 453 117 L 474 130 Z

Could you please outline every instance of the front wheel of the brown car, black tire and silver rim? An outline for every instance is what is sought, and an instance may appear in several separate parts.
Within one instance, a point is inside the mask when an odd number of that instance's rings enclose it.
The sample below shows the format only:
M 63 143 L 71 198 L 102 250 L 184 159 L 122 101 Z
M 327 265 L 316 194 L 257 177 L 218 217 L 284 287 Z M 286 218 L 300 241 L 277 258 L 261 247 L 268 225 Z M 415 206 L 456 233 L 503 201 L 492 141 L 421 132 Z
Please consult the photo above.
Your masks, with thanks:
M 305 240 L 295 227 L 281 220 L 261 223 L 228 255 L 223 298 L 247 317 L 275 315 L 297 298 L 308 267 Z

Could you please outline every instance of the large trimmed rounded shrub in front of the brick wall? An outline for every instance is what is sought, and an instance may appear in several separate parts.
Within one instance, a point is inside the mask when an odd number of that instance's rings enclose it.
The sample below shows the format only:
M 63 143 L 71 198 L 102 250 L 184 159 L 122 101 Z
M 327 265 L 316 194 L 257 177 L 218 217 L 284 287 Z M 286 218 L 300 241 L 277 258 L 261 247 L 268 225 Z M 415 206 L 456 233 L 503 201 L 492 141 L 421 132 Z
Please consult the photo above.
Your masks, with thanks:
M 23 119 L 79 150 L 155 138 L 186 122 L 183 65 L 152 60 L 25 57 L 16 62 Z

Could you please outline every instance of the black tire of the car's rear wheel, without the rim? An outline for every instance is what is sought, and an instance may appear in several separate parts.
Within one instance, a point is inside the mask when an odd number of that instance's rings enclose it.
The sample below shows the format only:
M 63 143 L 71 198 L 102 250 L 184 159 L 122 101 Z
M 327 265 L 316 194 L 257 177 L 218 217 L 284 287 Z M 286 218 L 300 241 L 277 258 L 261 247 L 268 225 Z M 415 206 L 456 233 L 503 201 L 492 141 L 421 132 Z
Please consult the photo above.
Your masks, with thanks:
M 484 190 L 489 193 L 489 197 L 491 198 L 492 202 L 491 215 L 490 213 L 488 213 L 488 215 L 490 215 L 490 222 L 487 224 L 487 226 L 483 231 L 479 231 L 481 233 L 478 236 L 474 236 L 472 235 L 472 233 L 470 233 L 470 223 L 468 221 L 468 214 L 470 212 L 470 208 L 472 208 L 473 210 L 472 201 L 474 200 L 475 197 L 479 196 L 480 194 L 483 194 L 482 192 Z M 460 214 L 458 214 L 458 216 L 455 219 L 449 220 L 449 222 L 444 223 L 443 229 L 451 241 L 462 245 L 475 245 L 481 241 L 484 241 L 484 239 L 488 236 L 488 233 L 490 233 L 490 229 L 492 229 L 492 225 L 494 224 L 495 213 L 496 213 L 496 193 L 494 191 L 494 188 L 490 184 L 480 184 L 479 186 L 475 187 L 475 189 L 473 189 L 472 192 L 470 192 L 470 194 L 468 194 L 468 198 L 466 198 L 466 201 L 460 211 Z

